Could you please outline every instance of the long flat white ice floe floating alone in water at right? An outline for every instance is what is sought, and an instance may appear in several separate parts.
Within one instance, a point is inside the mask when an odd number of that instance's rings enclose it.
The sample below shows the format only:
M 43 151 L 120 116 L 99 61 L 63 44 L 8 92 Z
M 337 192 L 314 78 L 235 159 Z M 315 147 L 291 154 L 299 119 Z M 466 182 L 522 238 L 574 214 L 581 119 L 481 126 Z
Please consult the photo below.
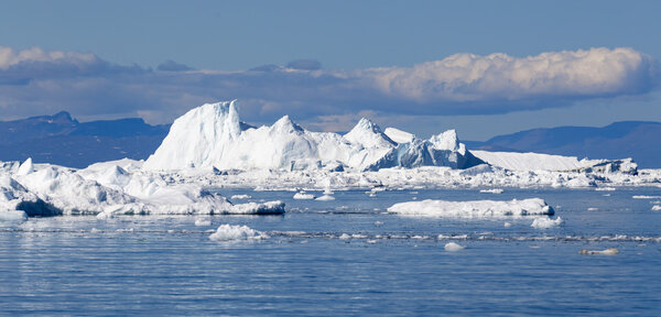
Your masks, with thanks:
M 523 200 L 472 200 L 446 201 L 426 199 L 394 204 L 389 212 L 402 216 L 449 217 L 449 218 L 503 218 L 553 215 L 553 208 L 541 198 Z

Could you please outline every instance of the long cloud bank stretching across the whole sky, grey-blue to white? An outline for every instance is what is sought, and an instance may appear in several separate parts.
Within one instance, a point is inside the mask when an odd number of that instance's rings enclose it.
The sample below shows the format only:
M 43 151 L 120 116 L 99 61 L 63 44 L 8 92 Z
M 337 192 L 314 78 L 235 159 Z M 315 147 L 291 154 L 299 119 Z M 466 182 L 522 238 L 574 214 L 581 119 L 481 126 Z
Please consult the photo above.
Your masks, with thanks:
M 319 118 L 324 129 L 328 118 L 361 111 L 488 114 L 642 95 L 657 87 L 655 67 L 632 48 L 590 48 L 522 58 L 463 53 L 412 67 L 323 69 L 317 61 L 297 59 L 219 72 L 173 61 L 152 69 L 94 54 L 0 46 L 0 120 L 68 110 L 78 117 L 167 122 L 201 103 L 238 98 L 242 118 L 252 122 L 292 114 Z

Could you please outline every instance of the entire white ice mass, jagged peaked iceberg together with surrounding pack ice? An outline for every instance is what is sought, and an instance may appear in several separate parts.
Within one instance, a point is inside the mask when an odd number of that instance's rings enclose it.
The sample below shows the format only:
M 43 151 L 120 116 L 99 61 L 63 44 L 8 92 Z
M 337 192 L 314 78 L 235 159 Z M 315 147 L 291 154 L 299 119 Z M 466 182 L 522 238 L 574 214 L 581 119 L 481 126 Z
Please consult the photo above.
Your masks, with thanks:
M 33 164 L 30 158 L 0 162 L 0 219 L 285 210 L 282 201 L 234 204 L 213 188 L 395 190 L 661 183 L 661 171 L 638 171 L 631 158 L 470 152 L 454 130 L 422 140 L 393 128 L 382 131 L 367 119 L 345 135 L 307 131 L 288 116 L 270 127 L 253 128 L 240 121 L 237 107 L 235 100 L 188 111 L 175 120 L 147 161 L 124 158 L 83 170 Z M 317 197 L 300 193 L 295 198 Z

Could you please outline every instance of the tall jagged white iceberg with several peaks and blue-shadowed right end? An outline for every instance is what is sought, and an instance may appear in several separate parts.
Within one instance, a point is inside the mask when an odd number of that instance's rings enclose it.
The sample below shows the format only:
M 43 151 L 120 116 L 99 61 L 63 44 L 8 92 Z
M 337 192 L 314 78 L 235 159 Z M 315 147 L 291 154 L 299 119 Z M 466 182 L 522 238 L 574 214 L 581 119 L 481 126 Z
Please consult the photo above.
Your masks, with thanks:
M 481 163 L 458 142 L 454 130 L 430 140 L 412 136 L 411 142 L 397 143 L 367 119 L 340 135 L 306 131 L 288 116 L 270 127 L 242 130 L 235 100 L 207 103 L 176 119 L 143 168 L 376 171 L 394 166 L 467 168 Z

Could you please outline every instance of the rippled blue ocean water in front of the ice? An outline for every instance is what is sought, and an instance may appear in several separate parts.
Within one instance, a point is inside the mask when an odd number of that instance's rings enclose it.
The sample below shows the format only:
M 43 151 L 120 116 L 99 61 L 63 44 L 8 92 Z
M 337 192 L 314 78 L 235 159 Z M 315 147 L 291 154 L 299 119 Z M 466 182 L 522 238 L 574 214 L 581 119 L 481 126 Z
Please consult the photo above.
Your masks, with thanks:
M 288 212 L 0 222 L 0 315 L 661 315 L 661 199 L 632 198 L 659 188 L 220 193 L 281 199 Z M 564 223 L 386 214 L 414 199 L 531 197 Z M 209 240 L 223 223 L 270 238 Z M 466 249 L 445 251 L 451 241 Z M 578 254 L 606 248 L 619 254 Z

